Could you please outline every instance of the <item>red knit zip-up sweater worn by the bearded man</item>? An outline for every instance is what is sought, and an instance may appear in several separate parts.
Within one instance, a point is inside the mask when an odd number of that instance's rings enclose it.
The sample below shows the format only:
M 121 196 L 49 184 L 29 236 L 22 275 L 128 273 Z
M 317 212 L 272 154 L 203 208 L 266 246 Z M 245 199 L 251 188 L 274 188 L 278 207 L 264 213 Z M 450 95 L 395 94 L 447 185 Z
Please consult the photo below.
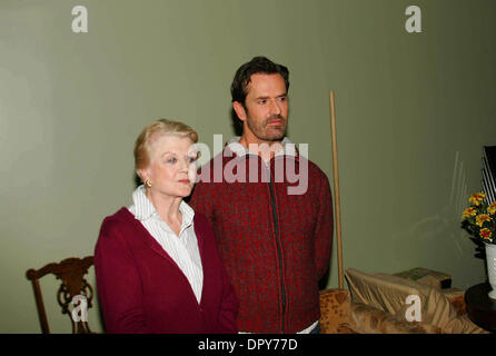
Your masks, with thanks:
M 334 225 L 327 176 L 307 160 L 307 191 L 289 195 L 288 187 L 298 182 L 289 182 L 287 175 L 281 181 L 279 164 L 292 164 L 298 175 L 305 168 L 304 157 L 272 158 L 268 182 L 267 167 L 258 156 L 237 157 L 229 147 L 226 150 L 201 168 L 204 181 L 196 185 L 189 204 L 212 226 L 240 303 L 238 329 L 302 330 L 319 319 L 318 281 L 329 267 Z M 224 178 L 234 174 L 248 182 L 214 182 L 220 176 L 214 172 L 216 160 L 227 172 Z M 256 177 L 258 182 L 249 182 Z

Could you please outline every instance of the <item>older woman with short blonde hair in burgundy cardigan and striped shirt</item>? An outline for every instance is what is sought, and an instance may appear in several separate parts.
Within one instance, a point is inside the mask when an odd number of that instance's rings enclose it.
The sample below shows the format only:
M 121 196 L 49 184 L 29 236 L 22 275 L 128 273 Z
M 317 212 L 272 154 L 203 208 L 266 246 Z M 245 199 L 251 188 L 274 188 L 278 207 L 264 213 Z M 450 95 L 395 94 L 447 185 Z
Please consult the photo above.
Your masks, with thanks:
M 207 219 L 182 199 L 196 179 L 197 134 L 158 120 L 135 146 L 143 181 L 107 217 L 95 249 L 108 333 L 236 333 L 238 301 Z

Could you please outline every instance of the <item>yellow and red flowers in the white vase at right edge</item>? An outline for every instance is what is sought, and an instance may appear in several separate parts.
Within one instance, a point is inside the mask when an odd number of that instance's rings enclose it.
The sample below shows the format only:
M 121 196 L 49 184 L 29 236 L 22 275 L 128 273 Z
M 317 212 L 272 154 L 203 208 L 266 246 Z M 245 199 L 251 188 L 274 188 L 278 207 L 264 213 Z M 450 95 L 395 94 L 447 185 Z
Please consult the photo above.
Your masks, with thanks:
M 484 199 L 484 192 L 468 198 L 470 206 L 462 215 L 462 228 L 478 241 L 496 245 L 496 201 L 487 204 Z

